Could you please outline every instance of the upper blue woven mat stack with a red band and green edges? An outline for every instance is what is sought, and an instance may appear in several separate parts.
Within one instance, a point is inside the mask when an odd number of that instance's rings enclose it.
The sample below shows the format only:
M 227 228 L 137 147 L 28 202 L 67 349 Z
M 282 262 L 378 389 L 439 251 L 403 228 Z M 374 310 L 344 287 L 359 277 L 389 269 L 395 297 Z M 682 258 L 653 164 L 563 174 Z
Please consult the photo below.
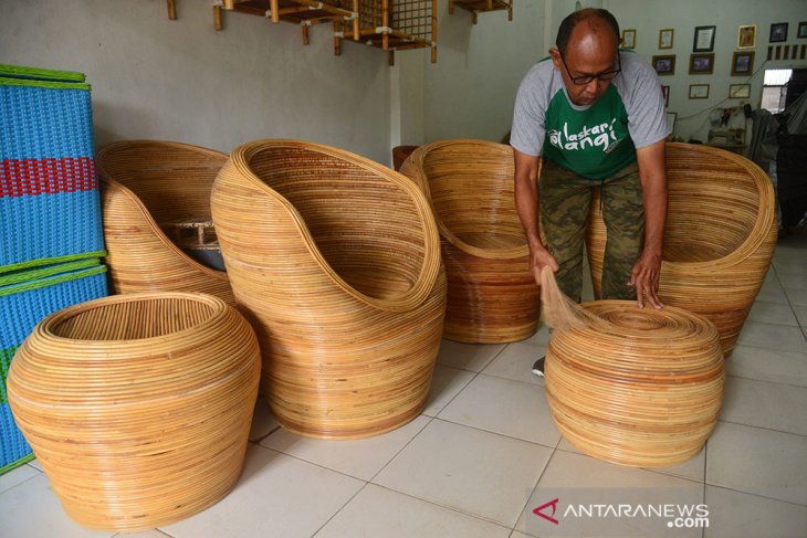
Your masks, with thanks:
M 0 273 L 104 250 L 83 80 L 0 64 Z

